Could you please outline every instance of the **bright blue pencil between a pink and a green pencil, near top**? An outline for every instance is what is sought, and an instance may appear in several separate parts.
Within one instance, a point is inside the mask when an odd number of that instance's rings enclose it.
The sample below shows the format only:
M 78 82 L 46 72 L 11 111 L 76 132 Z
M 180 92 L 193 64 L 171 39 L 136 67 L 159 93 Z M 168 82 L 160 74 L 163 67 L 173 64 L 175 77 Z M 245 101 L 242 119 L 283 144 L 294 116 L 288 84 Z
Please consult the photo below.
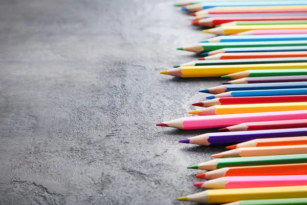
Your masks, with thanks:
M 307 22 L 307 20 L 306 20 Z M 224 42 L 270 42 L 284 40 L 306 40 L 307 34 L 277 34 L 277 35 L 221 35 L 200 43 L 224 43 Z

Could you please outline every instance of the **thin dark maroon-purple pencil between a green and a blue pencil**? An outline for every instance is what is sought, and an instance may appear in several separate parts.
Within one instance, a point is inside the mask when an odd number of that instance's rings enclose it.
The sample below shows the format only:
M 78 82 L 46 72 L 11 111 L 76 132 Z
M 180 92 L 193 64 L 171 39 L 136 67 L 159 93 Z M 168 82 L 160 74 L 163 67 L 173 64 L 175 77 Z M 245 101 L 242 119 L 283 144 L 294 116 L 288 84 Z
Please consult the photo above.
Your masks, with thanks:
M 231 80 L 226 84 L 253 84 L 253 83 L 282 83 L 282 82 L 299 82 L 307 81 L 307 75 L 293 76 L 273 76 L 273 77 L 245 77 L 236 80 Z

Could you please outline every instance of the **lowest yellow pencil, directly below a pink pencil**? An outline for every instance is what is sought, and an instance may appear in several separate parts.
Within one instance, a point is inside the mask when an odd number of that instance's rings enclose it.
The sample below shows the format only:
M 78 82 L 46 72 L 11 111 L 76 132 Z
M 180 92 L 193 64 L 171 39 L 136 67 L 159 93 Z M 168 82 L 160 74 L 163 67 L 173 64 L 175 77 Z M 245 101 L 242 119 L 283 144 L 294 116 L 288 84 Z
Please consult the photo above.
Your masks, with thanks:
M 306 195 L 307 186 L 263 187 L 207 190 L 179 197 L 178 200 L 204 204 L 221 204 L 247 199 L 302 198 L 306 197 Z

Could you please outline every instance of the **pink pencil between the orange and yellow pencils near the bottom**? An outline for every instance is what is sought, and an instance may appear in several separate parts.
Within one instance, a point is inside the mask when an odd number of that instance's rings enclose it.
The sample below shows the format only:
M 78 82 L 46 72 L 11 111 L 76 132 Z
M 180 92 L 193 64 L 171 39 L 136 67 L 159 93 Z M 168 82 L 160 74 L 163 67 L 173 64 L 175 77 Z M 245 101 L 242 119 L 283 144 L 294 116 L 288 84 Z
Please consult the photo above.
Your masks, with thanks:
M 228 176 L 194 183 L 207 189 L 238 189 L 258 187 L 289 187 L 307 185 L 307 175 L 287 176 Z

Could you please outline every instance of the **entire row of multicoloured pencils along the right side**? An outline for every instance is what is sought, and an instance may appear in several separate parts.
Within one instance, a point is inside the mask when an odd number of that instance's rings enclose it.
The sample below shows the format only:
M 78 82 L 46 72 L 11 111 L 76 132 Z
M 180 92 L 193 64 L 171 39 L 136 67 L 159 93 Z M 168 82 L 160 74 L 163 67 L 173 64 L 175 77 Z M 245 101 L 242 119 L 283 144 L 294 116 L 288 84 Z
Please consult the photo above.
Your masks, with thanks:
M 307 204 L 307 1 L 215 0 L 179 3 L 192 25 L 216 37 L 178 48 L 198 60 L 161 74 L 223 77 L 212 94 L 192 104 L 199 116 L 157 124 L 183 130 L 221 128 L 179 142 L 226 146 L 188 169 L 196 187 L 179 197 L 205 204 Z M 211 27 L 211 28 L 210 28 Z

